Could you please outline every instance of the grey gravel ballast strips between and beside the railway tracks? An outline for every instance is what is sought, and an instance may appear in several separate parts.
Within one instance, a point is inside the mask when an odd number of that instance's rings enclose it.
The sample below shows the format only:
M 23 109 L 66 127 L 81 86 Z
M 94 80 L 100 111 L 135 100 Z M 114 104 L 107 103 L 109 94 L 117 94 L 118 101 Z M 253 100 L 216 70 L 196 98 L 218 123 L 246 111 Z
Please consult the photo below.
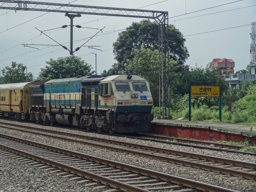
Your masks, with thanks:
M 0 120 L 2 122 L 10 122 L 7 120 Z M 11 122 L 13 123 L 13 122 Z M 18 124 L 18 122 L 16 122 Z M 229 159 L 236 159 L 251 163 L 256 163 L 256 157 L 252 155 L 243 155 L 238 153 L 226 153 L 213 150 L 201 150 L 193 147 L 184 147 L 171 144 L 157 143 L 154 141 L 141 141 L 126 137 L 115 137 L 108 135 L 100 135 L 98 133 L 81 132 L 77 130 L 62 129 L 57 127 L 49 127 L 36 125 L 31 123 L 22 123 L 28 126 L 38 126 L 44 129 L 52 129 L 63 132 L 71 132 L 76 134 L 97 136 L 102 138 L 108 138 L 112 140 L 126 141 L 131 143 L 137 143 L 148 146 L 171 148 L 173 150 L 186 151 L 190 153 L 198 153 L 210 156 L 224 157 Z M 200 182 L 217 185 L 241 192 L 255 192 L 256 181 L 244 180 L 241 178 L 235 178 L 232 176 L 221 176 L 219 174 L 209 173 L 203 170 L 193 169 L 190 167 L 183 167 L 174 164 L 168 164 L 165 162 L 159 162 L 135 155 L 127 155 L 118 152 L 106 151 L 104 149 L 98 149 L 92 146 L 81 145 L 79 143 L 71 143 L 63 140 L 56 140 L 54 138 L 39 136 L 36 134 L 30 134 L 15 130 L 8 130 L 0 127 L 0 132 L 9 134 L 21 138 L 25 138 L 31 141 L 37 141 L 40 143 L 47 143 L 49 145 L 66 148 L 69 150 L 94 155 L 102 158 L 108 158 L 113 161 L 123 162 L 130 165 L 144 167 L 147 169 L 176 175 L 188 179 L 194 179 Z M 17 171 L 17 169 L 19 171 Z M 35 175 L 39 175 L 36 176 Z M 15 178 L 11 179 L 10 178 Z M 51 174 L 33 166 L 29 166 L 26 163 L 16 161 L 10 157 L 6 157 L 0 154 L 0 192 L 3 191 L 94 191 L 93 188 L 85 188 L 83 185 L 76 184 L 64 178 L 60 178 L 56 174 Z

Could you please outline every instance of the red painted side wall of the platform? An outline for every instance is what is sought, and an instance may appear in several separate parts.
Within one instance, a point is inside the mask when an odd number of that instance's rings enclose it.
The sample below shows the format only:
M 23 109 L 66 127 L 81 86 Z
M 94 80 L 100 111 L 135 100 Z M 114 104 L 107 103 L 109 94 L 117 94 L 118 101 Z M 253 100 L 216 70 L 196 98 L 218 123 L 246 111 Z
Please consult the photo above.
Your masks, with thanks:
M 172 125 L 157 125 L 151 124 L 151 131 L 159 135 L 169 135 L 170 137 L 182 137 L 198 140 L 210 141 L 236 141 L 246 142 L 250 140 L 250 144 L 256 144 L 256 138 L 248 137 L 239 134 L 223 133 L 211 129 L 197 128 L 197 127 L 179 127 Z

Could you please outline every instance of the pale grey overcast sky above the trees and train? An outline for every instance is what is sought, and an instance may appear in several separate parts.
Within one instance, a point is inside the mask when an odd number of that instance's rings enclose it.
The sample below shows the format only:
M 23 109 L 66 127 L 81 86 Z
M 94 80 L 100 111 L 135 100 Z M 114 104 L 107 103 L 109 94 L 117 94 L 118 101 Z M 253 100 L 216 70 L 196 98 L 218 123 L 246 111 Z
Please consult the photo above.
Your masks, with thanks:
M 73 1 L 37 0 L 35 2 L 68 4 Z M 186 38 L 185 46 L 190 54 L 186 61 L 187 65 L 195 67 L 197 63 L 198 66 L 205 67 L 214 58 L 227 58 L 234 60 L 234 70 L 238 71 L 245 69 L 250 62 L 251 37 L 249 33 L 251 33 L 250 24 L 253 21 L 256 22 L 255 0 L 238 2 L 236 0 L 77 0 L 71 4 L 168 11 L 169 24 L 175 25 Z M 1 2 L 0 5 L 2 5 Z M 103 33 L 100 32 L 86 44 L 84 43 L 88 38 L 95 35 L 99 30 L 74 27 L 73 50 L 82 44 L 84 46 L 100 46 L 95 48 L 102 50 L 81 47 L 74 54 L 91 64 L 95 70 L 95 54 L 92 53 L 96 53 L 97 73 L 108 70 L 116 62 L 112 52 L 112 44 L 118 37 L 118 33 L 129 27 L 132 22 L 140 22 L 141 20 L 140 18 L 94 15 L 82 15 L 74 18 L 73 25 L 98 29 L 105 27 L 102 30 Z M 14 10 L 0 9 L 0 69 L 10 66 L 12 61 L 16 61 L 17 63 L 23 63 L 27 66 L 28 72 L 32 72 L 35 77 L 38 77 L 41 71 L 40 68 L 44 68 L 47 65 L 46 61 L 49 61 L 50 58 L 56 60 L 59 57 L 69 56 L 69 51 L 60 46 L 44 46 L 57 45 L 57 43 L 40 33 L 40 31 L 47 30 L 44 33 L 47 33 L 59 44 L 70 48 L 70 28 L 55 29 L 63 25 L 70 25 L 70 19 L 64 13 L 35 11 L 17 11 L 15 13 Z M 33 48 L 31 48 L 24 47 L 22 44 L 44 45 L 33 45 L 31 46 Z

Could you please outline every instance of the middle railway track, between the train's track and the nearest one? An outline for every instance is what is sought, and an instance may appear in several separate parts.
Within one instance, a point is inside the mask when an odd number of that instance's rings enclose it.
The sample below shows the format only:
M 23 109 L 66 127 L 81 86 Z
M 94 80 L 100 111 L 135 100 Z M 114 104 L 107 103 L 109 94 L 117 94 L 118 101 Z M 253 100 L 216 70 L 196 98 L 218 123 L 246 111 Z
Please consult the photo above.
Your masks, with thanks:
M 139 155 L 141 157 L 155 159 L 167 163 L 173 163 L 220 174 L 233 175 L 245 179 L 256 180 L 256 164 L 254 163 L 114 141 L 99 137 L 71 134 L 54 130 L 45 130 L 35 127 L 26 127 L 22 125 L 18 125 L 21 126 L 18 128 L 13 126 L 14 125 L 8 125 L 6 128 L 18 129 L 21 131 L 55 137 L 61 140 L 64 139 L 67 141 L 78 142 L 115 152 Z

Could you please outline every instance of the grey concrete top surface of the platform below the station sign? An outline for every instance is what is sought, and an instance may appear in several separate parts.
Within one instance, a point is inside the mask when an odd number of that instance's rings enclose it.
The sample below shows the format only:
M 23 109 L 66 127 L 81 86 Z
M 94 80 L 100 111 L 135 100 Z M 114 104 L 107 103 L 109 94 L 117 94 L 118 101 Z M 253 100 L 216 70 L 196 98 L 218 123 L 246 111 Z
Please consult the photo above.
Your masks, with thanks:
M 231 133 L 243 135 L 247 137 L 256 137 L 256 125 L 242 125 L 230 123 L 211 123 L 211 122 L 191 122 L 188 120 L 167 120 L 167 119 L 154 119 L 151 124 L 153 125 L 166 125 L 175 127 L 193 127 L 211 129 L 222 133 Z

